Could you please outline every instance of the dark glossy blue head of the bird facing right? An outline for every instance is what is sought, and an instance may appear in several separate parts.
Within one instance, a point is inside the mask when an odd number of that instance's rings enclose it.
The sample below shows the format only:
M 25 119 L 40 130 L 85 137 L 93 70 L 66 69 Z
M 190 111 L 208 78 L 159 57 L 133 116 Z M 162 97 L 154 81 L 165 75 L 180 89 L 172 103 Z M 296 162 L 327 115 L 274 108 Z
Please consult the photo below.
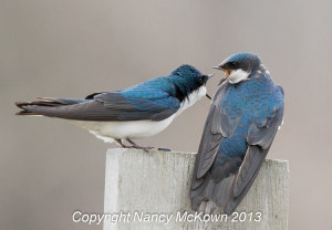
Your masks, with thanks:
M 177 95 L 181 101 L 200 87 L 205 88 L 212 74 L 205 75 L 193 65 L 185 64 L 172 71 L 168 79 L 174 83 Z

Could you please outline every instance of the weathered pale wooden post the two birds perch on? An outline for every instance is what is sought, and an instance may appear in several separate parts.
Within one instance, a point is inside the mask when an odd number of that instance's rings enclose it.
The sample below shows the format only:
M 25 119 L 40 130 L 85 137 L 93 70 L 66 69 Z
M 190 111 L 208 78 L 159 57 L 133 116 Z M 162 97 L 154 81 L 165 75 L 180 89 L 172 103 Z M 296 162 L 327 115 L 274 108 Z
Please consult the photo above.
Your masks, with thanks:
M 108 149 L 104 230 L 231 229 L 287 230 L 289 164 L 268 159 L 237 211 L 226 217 L 208 202 L 211 215 L 190 209 L 195 154 Z

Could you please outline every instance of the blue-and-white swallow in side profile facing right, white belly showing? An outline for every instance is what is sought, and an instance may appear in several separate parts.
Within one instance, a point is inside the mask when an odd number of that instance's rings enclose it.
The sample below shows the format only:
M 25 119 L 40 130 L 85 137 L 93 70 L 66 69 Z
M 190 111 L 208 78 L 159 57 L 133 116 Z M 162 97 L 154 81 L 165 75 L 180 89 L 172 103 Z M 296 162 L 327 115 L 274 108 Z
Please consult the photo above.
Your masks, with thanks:
M 17 102 L 22 108 L 17 114 L 63 118 L 104 142 L 147 149 L 133 139 L 164 130 L 183 111 L 207 95 L 206 83 L 211 76 L 191 65 L 181 65 L 167 76 L 122 91 L 93 93 L 84 100 L 41 97 L 30 103 Z

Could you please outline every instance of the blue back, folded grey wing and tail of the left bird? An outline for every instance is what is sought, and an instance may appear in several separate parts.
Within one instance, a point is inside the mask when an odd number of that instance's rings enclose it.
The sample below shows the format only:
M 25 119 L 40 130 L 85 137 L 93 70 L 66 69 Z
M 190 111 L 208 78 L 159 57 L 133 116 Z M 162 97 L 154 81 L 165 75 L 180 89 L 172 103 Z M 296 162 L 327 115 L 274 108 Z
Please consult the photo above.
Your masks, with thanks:
M 180 106 L 174 86 L 158 77 L 118 92 L 94 93 L 85 100 L 40 98 L 19 103 L 21 114 L 77 121 L 163 121 Z

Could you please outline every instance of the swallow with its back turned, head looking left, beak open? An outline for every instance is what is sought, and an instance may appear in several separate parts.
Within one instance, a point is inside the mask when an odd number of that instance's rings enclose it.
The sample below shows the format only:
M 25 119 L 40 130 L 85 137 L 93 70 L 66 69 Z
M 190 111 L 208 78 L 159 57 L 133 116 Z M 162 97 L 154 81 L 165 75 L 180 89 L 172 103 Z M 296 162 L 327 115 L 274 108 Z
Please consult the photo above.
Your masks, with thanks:
M 283 90 L 260 58 L 238 53 L 215 69 L 226 77 L 210 106 L 190 188 L 191 208 L 211 200 L 226 215 L 251 187 L 283 117 Z

